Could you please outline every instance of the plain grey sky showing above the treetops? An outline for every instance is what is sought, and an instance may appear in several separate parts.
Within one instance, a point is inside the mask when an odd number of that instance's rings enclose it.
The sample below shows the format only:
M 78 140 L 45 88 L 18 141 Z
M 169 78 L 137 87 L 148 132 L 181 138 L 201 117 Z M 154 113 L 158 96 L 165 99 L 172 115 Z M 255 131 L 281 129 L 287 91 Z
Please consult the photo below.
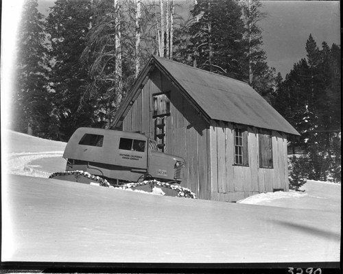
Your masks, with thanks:
M 156 3 L 159 1 L 155 0 Z M 176 0 L 178 1 L 178 0 Z M 340 1 L 261 1 L 268 17 L 261 21 L 263 49 L 268 64 L 285 77 L 293 64 L 306 58 L 305 44 L 312 34 L 318 47 L 323 41 L 331 47 L 340 45 Z M 40 12 L 45 13 L 54 0 L 39 0 Z M 178 13 L 187 15 L 193 0 L 180 0 L 184 8 Z

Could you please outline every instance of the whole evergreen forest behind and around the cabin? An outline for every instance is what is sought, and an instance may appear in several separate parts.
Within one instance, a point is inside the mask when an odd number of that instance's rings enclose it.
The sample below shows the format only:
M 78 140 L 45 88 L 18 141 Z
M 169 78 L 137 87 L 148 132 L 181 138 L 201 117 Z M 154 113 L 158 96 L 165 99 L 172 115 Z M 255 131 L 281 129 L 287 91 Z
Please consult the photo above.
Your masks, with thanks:
M 37 0 L 25 1 L 12 129 L 67 141 L 78 127 L 110 128 L 154 54 L 250 84 L 301 134 L 289 139 L 304 153 L 293 160 L 298 176 L 340 181 L 340 45 L 318 47 L 309 34 L 307 56 L 283 79 L 262 49 L 260 1 L 189 1 L 188 18 L 176 14 L 177 5 L 56 0 L 43 16 Z

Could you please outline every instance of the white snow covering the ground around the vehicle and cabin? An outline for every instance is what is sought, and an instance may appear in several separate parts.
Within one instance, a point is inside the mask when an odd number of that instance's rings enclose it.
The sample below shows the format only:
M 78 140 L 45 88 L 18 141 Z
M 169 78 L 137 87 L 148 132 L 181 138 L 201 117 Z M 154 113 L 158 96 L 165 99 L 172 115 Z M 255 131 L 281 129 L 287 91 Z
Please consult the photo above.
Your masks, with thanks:
M 65 143 L 8 132 L 2 261 L 338 262 L 341 186 L 223 203 L 47 179 Z M 3 143 L 3 142 L 2 142 Z M 250 204 L 248 204 L 250 203 Z

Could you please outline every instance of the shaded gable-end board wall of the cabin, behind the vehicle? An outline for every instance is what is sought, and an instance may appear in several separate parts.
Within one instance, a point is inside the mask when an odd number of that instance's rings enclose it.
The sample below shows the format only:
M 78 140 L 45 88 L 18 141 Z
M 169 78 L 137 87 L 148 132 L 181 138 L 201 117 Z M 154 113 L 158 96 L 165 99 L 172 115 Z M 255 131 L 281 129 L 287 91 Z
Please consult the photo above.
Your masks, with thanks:
M 154 137 L 152 95 L 170 92 L 170 116 L 165 116 L 165 153 L 185 159 L 185 186 L 200 199 L 211 199 L 209 125 L 159 71 L 150 74 L 141 94 L 123 120 L 123 130 Z

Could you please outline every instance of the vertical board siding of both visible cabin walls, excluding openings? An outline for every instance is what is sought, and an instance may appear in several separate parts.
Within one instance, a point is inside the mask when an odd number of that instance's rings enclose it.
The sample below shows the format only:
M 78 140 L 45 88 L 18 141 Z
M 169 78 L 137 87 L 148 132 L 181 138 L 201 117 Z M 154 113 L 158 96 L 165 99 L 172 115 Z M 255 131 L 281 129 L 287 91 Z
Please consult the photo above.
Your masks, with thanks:
M 123 130 L 154 138 L 152 95 L 169 92 L 165 116 L 165 153 L 185 159 L 182 186 L 200 199 L 237 201 L 259 192 L 288 190 L 287 139 L 272 131 L 273 169 L 259 167 L 259 134 L 248 127 L 248 166 L 234 164 L 232 123 L 208 125 L 180 91 L 159 71 L 153 71 L 123 120 Z

